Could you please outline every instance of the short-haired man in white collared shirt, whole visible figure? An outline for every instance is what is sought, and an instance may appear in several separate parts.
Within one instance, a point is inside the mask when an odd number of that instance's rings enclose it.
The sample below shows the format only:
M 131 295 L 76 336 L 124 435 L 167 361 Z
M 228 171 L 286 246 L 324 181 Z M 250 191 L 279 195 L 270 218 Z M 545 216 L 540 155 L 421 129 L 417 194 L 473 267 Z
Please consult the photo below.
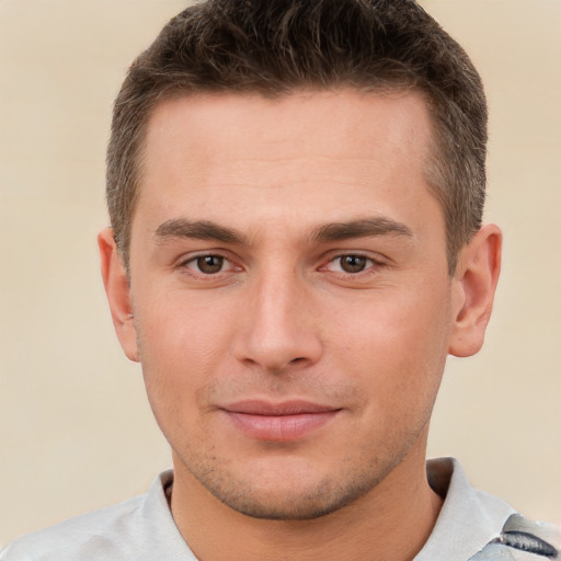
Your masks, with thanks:
M 479 351 L 501 232 L 486 108 L 410 0 L 207 1 L 130 68 L 102 272 L 173 472 L 2 560 L 551 559 L 425 466 L 446 356 Z

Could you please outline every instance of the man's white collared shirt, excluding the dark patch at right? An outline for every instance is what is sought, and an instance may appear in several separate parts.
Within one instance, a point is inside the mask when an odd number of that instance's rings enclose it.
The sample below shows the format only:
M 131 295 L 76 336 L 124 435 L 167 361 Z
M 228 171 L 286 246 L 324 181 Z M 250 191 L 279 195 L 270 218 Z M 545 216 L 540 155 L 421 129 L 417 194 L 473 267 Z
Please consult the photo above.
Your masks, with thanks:
M 445 501 L 414 561 L 467 561 L 500 536 L 515 512 L 473 489 L 455 459 L 428 460 L 427 474 Z M 164 471 L 145 495 L 20 538 L 0 553 L 0 561 L 196 561 L 168 505 L 172 480 L 172 472 Z

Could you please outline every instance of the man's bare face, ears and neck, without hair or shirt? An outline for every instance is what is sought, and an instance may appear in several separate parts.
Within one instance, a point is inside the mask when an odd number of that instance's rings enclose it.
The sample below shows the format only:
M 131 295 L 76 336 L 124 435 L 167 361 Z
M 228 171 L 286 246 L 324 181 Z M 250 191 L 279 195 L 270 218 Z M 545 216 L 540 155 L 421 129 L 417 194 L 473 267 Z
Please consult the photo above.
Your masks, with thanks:
M 173 453 L 198 559 L 412 559 L 442 500 L 424 468 L 448 353 L 482 342 L 501 233 L 447 271 L 414 92 L 162 102 L 130 282 L 100 234 L 117 335 Z

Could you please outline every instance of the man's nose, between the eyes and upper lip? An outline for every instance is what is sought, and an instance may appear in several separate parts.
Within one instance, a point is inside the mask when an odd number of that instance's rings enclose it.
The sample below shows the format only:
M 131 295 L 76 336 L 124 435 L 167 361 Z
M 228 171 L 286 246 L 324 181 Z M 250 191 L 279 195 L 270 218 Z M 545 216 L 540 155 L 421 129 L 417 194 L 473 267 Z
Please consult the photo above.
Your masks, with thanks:
M 239 360 L 283 373 L 320 359 L 318 314 L 304 279 L 293 272 L 271 272 L 248 291 L 233 350 Z

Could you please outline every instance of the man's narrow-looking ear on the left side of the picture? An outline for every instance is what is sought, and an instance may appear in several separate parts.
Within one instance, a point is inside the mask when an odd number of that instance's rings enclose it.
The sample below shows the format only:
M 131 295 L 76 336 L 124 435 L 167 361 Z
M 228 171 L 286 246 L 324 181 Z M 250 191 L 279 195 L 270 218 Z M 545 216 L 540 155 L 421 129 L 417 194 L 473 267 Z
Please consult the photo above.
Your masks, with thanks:
M 100 248 L 101 275 L 117 337 L 127 357 L 138 363 L 137 333 L 130 301 L 130 285 L 111 228 L 105 228 L 100 232 L 98 245 Z

